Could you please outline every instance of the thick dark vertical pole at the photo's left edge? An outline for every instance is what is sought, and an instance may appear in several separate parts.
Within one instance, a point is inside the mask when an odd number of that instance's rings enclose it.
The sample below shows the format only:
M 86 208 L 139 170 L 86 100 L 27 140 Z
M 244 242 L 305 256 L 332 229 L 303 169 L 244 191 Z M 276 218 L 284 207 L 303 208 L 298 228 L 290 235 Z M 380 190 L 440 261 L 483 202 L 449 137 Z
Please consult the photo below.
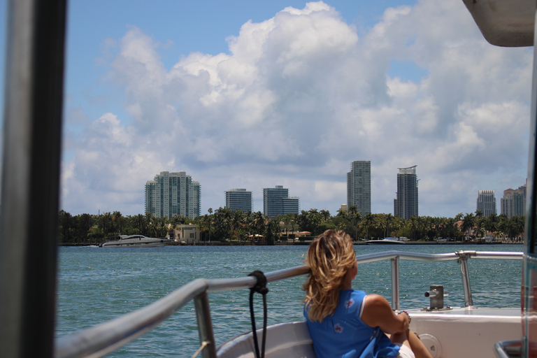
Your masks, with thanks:
M 0 219 L 0 357 L 52 357 L 65 0 L 10 0 Z

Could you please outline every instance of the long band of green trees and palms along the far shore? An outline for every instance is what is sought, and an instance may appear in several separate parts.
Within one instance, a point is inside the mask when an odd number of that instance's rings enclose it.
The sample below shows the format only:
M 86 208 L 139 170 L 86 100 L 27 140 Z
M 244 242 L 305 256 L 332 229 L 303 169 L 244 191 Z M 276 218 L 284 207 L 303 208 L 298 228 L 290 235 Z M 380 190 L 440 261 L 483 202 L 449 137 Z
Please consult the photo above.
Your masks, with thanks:
M 229 208 L 209 209 L 208 213 L 189 219 L 176 215 L 171 219 L 155 217 L 150 213 L 122 215 L 119 211 L 101 215 L 71 215 L 59 211 L 58 233 L 61 243 L 101 243 L 105 238 L 141 234 L 163 238 L 180 224 L 197 224 L 201 241 L 257 241 L 273 244 L 290 233 L 309 231 L 317 236 L 327 229 L 345 230 L 352 238 L 369 240 L 389 236 L 406 237 L 412 241 L 434 241 L 451 238 L 455 241 L 482 240 L 487 232 L 499 241 L 517 241 L 524 231 L 524 216 L 484 216 L 475 213 L 459 213 L 455 217 L 418 216 L 405 220 L 392 214 L 362 215 L 355 206 L 338 210 L 331 215 L 328 210 L 302 210 L 299 214 L 266 217 L 257 211 L 233 211 Z

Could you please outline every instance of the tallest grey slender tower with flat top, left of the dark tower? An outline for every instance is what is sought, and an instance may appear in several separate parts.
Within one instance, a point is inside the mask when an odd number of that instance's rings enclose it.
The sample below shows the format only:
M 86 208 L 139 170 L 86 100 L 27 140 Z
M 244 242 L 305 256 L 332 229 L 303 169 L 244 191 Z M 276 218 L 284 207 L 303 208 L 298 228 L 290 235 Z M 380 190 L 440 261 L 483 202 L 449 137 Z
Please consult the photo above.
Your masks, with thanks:
M 347 206 L 365 215 L 371 213 L 371 161 L 357 160 L 347 173 Z

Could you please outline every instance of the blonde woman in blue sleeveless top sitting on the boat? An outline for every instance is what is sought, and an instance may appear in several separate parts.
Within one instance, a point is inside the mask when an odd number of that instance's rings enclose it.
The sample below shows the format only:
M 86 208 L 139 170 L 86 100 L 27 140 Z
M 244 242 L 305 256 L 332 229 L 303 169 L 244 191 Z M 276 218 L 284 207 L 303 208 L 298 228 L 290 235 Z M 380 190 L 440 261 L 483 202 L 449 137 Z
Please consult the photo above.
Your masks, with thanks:
M 357 275 L 355 248 L 345 231 L 327 230 L 310 245 L 311 274 L 304 285 L 304 316 L 317 358 L 429 357 L 408 325 L 378 294 L 352 289 Z

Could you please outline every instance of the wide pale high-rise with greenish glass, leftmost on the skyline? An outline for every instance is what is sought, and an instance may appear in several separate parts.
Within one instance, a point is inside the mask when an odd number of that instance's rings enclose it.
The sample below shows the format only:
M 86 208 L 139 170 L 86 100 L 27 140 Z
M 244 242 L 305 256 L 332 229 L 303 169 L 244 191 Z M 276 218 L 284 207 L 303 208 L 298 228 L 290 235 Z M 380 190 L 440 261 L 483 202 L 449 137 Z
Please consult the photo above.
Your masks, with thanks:
M 181 215 L 194 219 L 200 215 L 199 182 L 184 171 L 161 171 L 145 183 L 145 213 L 156 217 Z

